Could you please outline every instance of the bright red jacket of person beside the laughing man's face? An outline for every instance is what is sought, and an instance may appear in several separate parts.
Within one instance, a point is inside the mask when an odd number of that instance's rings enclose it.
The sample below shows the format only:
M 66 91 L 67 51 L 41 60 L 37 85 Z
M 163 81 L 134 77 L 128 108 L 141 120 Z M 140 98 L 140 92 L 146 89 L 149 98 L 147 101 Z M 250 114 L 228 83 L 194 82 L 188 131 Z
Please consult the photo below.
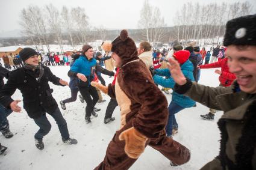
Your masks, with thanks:
M 228 58 L 221 59 L 220 61 L 213 62 L 211 64 L 199 65 L 200 68 L 217 68 L 221 67 L 221 74 L 219 81 L 224 87 L 228 87 L 236 79 L 235 74 L 230 73 L 228 70 Z

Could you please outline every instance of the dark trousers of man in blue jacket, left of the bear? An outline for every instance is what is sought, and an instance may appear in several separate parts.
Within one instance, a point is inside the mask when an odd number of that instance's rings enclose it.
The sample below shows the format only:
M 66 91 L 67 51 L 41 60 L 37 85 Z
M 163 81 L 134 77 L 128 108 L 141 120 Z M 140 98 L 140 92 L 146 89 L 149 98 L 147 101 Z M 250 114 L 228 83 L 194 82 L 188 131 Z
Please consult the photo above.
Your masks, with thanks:
M 86 117 L 90 117 L 93 111 L 94 106 L 99 100 L 98 93 L 95 87 L 78 87 L 81 95 L 84 100 L 86 100 Z M 91 97 L 92 96 L 92 97 Z

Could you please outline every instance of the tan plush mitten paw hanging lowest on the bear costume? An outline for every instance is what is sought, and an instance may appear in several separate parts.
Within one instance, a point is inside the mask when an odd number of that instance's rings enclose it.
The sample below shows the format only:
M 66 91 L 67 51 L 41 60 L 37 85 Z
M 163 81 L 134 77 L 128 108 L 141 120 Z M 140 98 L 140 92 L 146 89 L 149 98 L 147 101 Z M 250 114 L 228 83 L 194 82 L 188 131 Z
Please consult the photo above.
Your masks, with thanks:
M 145 150 L 148 138 L 131 127 L 119 135 L 119 140 L 125 140 L 125 153 L 132 159 L 137 159 Z

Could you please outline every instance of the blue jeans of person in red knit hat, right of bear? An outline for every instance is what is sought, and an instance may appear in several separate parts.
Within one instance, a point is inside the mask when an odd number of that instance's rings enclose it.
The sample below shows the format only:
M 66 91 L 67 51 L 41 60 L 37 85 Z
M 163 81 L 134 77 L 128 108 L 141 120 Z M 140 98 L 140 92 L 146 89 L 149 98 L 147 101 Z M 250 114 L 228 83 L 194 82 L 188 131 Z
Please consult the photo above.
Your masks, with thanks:
M 172 129 L 173 127 L 175 129 L 178 129 L 178 123 L 176 122 L 175 114 L 180 112 L 185 108 L 181 107 L 180 105 L 177 105 L 176 103 L 170 102 L 170 105 L 168 107 L 169 110 L 169 118 L 166 126 L 166 134 L 167 136 L 172 136 Z

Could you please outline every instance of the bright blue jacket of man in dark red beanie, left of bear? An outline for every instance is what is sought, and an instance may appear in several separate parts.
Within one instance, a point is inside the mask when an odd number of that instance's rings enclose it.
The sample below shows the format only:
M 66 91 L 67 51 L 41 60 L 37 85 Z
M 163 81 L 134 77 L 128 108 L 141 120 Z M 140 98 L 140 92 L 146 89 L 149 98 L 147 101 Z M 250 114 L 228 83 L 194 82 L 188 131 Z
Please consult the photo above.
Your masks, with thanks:
M 90 82 L 94 78 L 95 73 L 95 65 L 96 59 L 92 58 L 90 61 L 86 58 L 86 56 L 80 56 L 80 58 L 76 59 L 73 63 L 70 71 L 84 74 L 87 77 L 88 86 L 90 86 Z

